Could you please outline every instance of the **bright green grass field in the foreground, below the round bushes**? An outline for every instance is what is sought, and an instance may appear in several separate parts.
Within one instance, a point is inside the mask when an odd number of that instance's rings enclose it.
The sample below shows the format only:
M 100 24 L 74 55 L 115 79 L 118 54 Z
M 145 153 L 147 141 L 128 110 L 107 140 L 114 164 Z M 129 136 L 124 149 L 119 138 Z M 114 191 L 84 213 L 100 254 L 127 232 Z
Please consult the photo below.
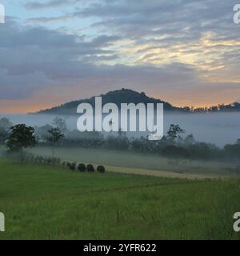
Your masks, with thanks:
M 239 239 L 239 180 L 71 172 L 0 159 L 0 239 Z

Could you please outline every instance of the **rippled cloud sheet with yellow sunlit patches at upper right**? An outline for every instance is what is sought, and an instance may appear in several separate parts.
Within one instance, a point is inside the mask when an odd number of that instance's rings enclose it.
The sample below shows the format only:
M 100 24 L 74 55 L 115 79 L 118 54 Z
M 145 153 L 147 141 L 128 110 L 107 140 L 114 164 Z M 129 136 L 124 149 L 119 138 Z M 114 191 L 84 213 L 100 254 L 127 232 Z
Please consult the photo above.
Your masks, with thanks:
M 122 42 L 109 47 L 118 51 L 118 63 L 121 64 L 182 62 L 208 72 L 226 69 L 236 62 L 240 34 L 233 22 L 234 0 L 90 0 L 87 5 L 74 3 L 76 6 L 68 14 L 31 18 L 28 22 L 46 24 L 72 18 L 81 21 L 95 18 L 97 21 L 90 22 L 89 30 L 99 36 L 103 32 L 122 38 Z

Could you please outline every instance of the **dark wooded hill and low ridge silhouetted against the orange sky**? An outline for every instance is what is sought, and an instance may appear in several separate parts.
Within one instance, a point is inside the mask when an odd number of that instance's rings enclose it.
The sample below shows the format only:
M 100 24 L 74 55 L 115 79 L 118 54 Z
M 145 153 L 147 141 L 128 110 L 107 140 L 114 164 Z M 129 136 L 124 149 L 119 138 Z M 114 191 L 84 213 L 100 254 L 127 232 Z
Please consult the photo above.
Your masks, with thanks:
M 201 108 L 190 108 L 177 107 L 171 105 L 169 102 L 164 102 L 161 99 L 150 98 L 144 92 L 137 92 L 135 90 L 124 89 L 109 91 L 106 94 L 99 95 L 102 97 L 102 104 L 109 102 L 115 103 L 118 107 L 121 103 L 163 103 L 164 110 L 169 112 L 180 112 L 180 113 L 218 113 L 218 112 L 240 112 L 240 103 L 234 102 L 231 104 L 219 104 L 218 106 L 201 107 Z M 73 102 L 67 102 L 60 106 L 54 106 L 50 109 L 39 110 L 35 114 L 77 114 L 77 107 L 80 103 L 90 103 L 93 107 L 95 104 L 95 97 L 80 99 Z

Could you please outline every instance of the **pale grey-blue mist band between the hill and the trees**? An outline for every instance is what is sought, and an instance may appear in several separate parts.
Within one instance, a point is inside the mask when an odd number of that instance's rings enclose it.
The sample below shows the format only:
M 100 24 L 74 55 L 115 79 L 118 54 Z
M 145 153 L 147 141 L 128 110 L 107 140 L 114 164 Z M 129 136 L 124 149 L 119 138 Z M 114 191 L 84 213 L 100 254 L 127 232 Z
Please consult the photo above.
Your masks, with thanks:
M 56 115 L 51 114 L 0 114 L 0 118 L 10 118 L 14 124 L 26 123 L 29 126 L 51 124 Z M 78 115 L 58 115 L 66 120 L 69 130 L 77 129 Z M 216 114 L 164 114 L 164 132 L 171 123 L 179 124 L 186 134 L 194 134 L 199 142 L 211 142 L 217 146 L 234 143 L 240 138 L 240 113 Z M 106 134 L 106 133 L 105 133 Z M 143 133 L 127 133 L 130 137 L 146 135 Z

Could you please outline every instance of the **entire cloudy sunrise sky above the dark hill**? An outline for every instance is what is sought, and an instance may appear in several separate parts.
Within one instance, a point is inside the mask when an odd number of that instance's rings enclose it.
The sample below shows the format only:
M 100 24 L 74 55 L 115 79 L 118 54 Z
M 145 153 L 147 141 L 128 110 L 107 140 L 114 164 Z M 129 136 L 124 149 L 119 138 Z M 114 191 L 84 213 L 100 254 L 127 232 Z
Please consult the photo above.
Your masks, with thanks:
M 122 88 L 174 106 L 239 101 L 238 2 L 0 0 L 0 112 Z

